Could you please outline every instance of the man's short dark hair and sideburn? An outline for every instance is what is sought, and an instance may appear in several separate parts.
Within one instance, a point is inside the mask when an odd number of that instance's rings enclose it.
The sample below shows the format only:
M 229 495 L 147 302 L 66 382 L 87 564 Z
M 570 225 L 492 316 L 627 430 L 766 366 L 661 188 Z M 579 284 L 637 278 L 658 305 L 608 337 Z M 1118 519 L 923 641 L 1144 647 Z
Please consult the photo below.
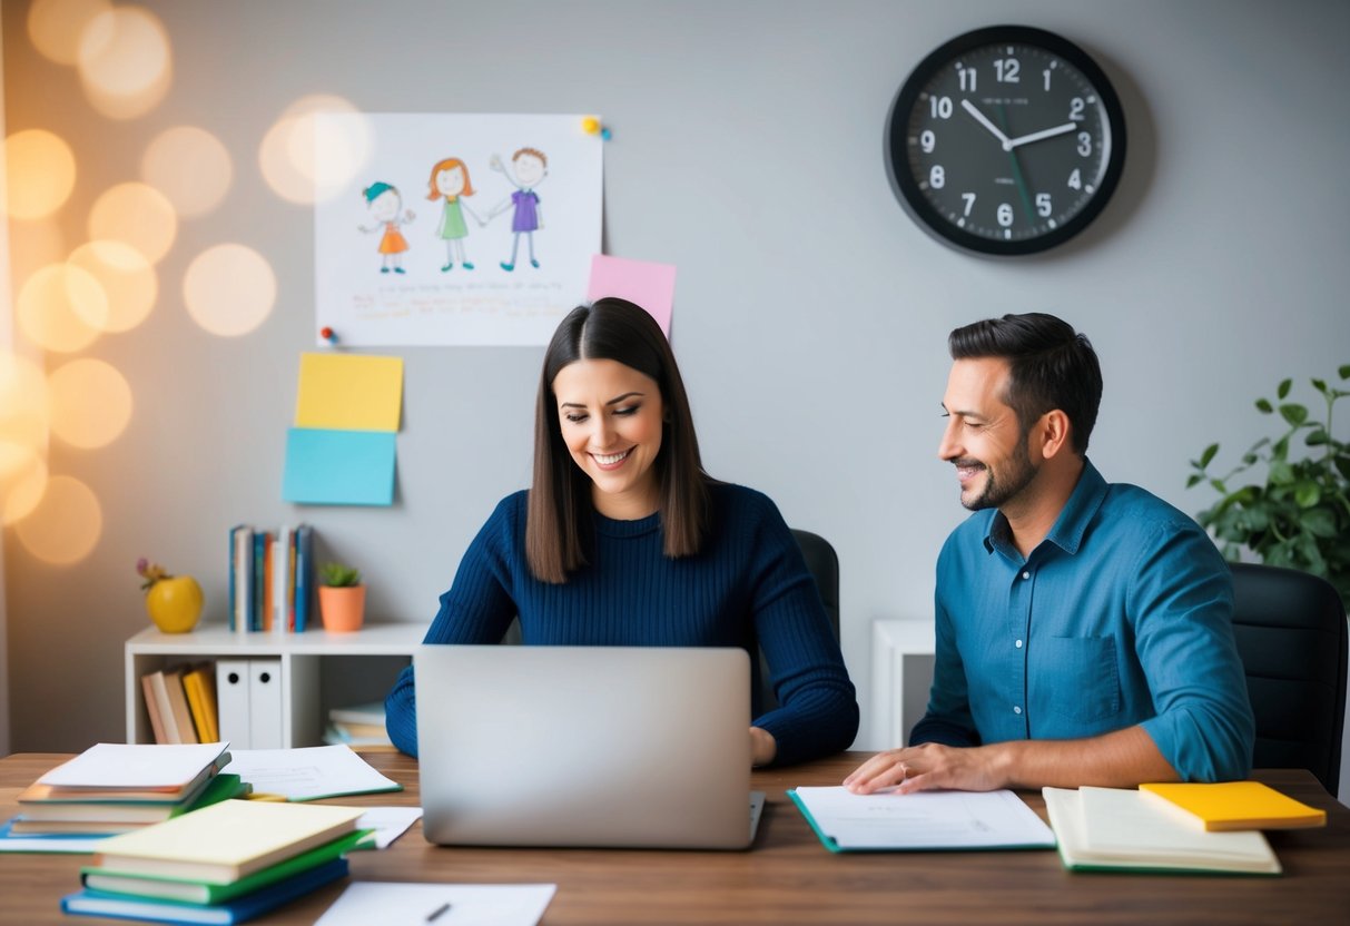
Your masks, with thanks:
M 1022 433 L 1046 412 L 1060 409 L 1072 424 L 1073 451 L 1087 452 L 1102 404 L 1102 364 L 1087 335 L 1053 315 L 1029 312 L 957 328 L 948 347 L 953 360 L 1007 360 L 1011 375 L 1003 401 L 1017 413 Z

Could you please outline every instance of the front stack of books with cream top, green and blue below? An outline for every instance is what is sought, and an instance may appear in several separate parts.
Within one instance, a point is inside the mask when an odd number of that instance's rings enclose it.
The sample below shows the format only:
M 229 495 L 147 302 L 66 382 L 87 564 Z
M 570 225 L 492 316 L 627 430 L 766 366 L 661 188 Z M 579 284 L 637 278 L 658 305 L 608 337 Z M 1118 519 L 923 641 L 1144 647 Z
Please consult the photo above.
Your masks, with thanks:
M 240 923 L 347 875 L 359 807 L 227 800 L 100 844 L 69 914 Z

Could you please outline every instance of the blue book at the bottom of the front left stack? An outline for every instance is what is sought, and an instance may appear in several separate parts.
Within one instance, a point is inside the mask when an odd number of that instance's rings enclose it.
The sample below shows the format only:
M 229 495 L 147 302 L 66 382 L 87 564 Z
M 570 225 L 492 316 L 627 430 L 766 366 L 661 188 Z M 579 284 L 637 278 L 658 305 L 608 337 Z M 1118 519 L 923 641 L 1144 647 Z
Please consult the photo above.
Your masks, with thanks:
M 329 881 L 347 876 L 347 860 L 333 859 L 317 868 L 224 903 L 176 903 L 154 898 L 132 898 L 85 888 L 61 898 L 61 910 L 85 917 L 144 919 L 155 923 L 242 923 L 290 903 Z

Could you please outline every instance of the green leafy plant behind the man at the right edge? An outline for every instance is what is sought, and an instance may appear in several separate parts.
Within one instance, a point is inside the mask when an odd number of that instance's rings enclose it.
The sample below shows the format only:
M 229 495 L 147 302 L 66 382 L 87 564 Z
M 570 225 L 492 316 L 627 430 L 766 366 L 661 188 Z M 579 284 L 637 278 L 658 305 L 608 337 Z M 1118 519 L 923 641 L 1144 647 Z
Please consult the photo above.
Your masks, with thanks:
M 1338 374 L 1350 379 L 1350 364 Z M 1219 501 L 1197 517 L 1222 541 L 1227 559 L 1237 560 L 1249 549 L 1269 566 L 1320 575 L 1350 606 L 1350 443 L 1331 431 L 1335 404 L 1350 391 L 1323 379 L 1310 382 L 1326 405 L 1324 418 L 1314 417 L 1307 405 L 1287 401 L 1292 381 L 1285 379 L 1276 387 L 1274 401 L 1256 401 L 1257 410 L 1274 417 L 1281 432 L 1258 440 L 1222 476 L 1210 472 L 1219 452 L 1218 444 L 1210 444 L 1200 459 L 1191 460 L 1195 472 L 1187 489 L 1206 482 L 1219 493 Z M 1299 437 L 1307 452 L 1291 456 Z M 1258 464 L 1265 466 L 1264 483 L 1234 487 L 1238 476 Z

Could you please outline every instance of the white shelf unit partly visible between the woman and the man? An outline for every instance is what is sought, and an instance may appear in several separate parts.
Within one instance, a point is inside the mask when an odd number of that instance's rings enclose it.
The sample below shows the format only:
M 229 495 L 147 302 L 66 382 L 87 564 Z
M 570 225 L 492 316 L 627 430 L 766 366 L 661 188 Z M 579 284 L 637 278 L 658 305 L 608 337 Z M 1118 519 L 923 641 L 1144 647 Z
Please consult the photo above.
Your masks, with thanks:
M 933 684 L 932 621 L 872 622 L 872 736 L 878 749 L 909 745 Z

